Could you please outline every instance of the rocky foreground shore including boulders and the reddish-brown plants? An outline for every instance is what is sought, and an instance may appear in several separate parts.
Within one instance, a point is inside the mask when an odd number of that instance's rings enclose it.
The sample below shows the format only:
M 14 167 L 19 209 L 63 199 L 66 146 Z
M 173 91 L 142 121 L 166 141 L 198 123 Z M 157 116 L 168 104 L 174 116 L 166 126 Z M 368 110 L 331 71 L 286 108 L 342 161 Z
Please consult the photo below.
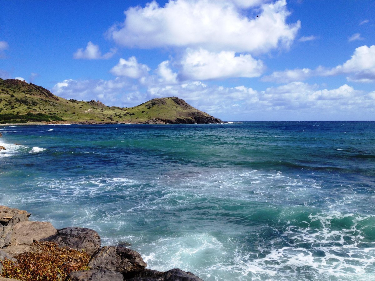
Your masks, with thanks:
M 141 254 L 125 247 L 126 244 L 101 247 L 101 238 L 95 230 L 84 227 L 55 229 L 49 222 L 30 221 L 30 215 L 27 211 L 0 206 L 0 279 L 26 275 L 26 280 L 37 280 L 52 274 L 62 281 L 203 281 L 191 272 L 177 268 L 165 272 L 147 269 Z M 60 254 L 57 247 L 65 252 Z M 66 258 L 66 251 L 75 263 L 83 255 L 87 261 L 78 268 L 68 264 L 70 261 L 58 263 L 62 257 Z M 48 255 L 47 263 L 50 259 L 58 260 L 53 265 L 56 272 L 49 272 L 53 266 L 43 268 L 45 261 L 36 258 L 34 262 L 42 268 L 30 270 L 30 273 L 28 268 L 35 264 L 29 265 L 27 257 L 43 255 Z

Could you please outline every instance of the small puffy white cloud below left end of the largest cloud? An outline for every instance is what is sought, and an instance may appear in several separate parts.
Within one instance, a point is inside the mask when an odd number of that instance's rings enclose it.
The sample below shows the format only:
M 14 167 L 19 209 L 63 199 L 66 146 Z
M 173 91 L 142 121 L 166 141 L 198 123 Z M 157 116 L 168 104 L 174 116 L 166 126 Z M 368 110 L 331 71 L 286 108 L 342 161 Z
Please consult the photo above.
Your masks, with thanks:
M 148 75 L 150 70 L 146 64 L 138 63 L 137 59 L 133 56 L 128 58 L 128 60 L 120 58 L 118 64 L 111 69 L 111 73 L 117 76 L 139 79 Z

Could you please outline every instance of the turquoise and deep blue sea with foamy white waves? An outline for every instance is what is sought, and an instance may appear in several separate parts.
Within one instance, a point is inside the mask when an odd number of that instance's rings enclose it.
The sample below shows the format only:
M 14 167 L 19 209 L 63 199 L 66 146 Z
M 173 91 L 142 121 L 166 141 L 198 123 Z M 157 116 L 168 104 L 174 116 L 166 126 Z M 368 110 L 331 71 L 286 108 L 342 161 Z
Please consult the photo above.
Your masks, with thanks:
M 204 280 L 375 280 L 375 122 L 1 126 L 0 204 Z M 15 145 L 13 143 L 18 143 Z

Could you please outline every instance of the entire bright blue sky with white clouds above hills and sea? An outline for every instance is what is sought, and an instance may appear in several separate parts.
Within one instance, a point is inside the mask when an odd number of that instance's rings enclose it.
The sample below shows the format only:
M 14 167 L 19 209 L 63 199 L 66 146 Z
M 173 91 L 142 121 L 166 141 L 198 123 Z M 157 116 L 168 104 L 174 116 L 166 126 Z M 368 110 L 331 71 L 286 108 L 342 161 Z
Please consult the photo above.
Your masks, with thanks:
M 375 1 L 1 4 L 0 78 L 66 99 L 177 96 L 226 121 L 375 120 Z

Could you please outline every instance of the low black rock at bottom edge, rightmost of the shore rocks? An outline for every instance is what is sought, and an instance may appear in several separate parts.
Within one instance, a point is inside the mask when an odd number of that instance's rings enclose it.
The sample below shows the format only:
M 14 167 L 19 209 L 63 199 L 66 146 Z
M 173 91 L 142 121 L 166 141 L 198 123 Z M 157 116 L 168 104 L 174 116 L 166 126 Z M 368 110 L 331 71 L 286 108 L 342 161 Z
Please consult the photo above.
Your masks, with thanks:
M 127 281 L 203 281 L 191 272 L 185 272 L 174 268 L 166 272 L 145 269 L 135 277 Z

